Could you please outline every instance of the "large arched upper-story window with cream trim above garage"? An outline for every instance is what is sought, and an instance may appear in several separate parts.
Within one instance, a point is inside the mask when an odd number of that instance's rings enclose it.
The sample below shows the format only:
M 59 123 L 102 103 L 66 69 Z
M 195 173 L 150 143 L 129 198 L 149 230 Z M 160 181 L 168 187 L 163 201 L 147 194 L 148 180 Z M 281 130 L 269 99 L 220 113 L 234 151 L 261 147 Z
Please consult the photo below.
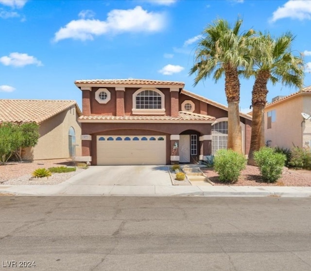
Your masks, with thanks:
M 164 94 L 154 88 L 143 88 L 133 94 L 133 114 L 164 115 Z

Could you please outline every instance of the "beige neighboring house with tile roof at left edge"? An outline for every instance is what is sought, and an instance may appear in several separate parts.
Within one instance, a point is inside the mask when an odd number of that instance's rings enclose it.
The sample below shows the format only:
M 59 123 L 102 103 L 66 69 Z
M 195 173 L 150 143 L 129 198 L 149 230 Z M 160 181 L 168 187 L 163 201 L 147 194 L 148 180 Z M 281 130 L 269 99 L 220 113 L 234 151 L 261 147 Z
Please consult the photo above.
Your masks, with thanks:
M 81 155 L 81 111 L 75 101 L 1 100 L 0 122 L 35 122 L 40 137 L 22 150 L 24 160 L 62 159 Z

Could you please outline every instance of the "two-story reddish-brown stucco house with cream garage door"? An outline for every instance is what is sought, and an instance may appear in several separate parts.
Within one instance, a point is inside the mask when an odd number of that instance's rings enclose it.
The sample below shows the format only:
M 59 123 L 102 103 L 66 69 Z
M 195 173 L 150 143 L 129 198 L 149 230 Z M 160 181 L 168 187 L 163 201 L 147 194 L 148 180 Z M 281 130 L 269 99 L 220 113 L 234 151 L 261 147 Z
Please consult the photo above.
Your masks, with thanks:
M 227 144 L 227 107 L 184 90 L 184 83 L 78 80 L 82 155 L 93 165 L 198 163 Z M 241 113 L 249 151 L 251 116 Z

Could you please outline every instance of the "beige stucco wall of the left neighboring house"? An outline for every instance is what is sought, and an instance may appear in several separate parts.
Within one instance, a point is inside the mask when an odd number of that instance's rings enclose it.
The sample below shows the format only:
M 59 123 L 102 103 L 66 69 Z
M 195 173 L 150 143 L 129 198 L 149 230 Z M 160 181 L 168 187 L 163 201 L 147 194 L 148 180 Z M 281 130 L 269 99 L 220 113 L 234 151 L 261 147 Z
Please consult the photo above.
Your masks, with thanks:
M 23 159 L 69 158 L 69 128 L 72 126 L 76 138 L 76 156 L 81 156 L 81 126 L 77 121 L 76 108 L 67 109 L 40 124 L 40 138 L 34 148 L 25 149 Z

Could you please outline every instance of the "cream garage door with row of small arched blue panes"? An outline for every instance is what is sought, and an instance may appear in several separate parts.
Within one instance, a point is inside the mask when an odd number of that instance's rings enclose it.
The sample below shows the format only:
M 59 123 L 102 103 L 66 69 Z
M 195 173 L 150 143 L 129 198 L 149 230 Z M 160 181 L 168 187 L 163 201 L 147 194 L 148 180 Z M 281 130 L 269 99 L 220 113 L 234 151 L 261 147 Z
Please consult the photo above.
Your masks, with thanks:
M 166 137 L 97 136 L 97 164 L 166 164 Z

